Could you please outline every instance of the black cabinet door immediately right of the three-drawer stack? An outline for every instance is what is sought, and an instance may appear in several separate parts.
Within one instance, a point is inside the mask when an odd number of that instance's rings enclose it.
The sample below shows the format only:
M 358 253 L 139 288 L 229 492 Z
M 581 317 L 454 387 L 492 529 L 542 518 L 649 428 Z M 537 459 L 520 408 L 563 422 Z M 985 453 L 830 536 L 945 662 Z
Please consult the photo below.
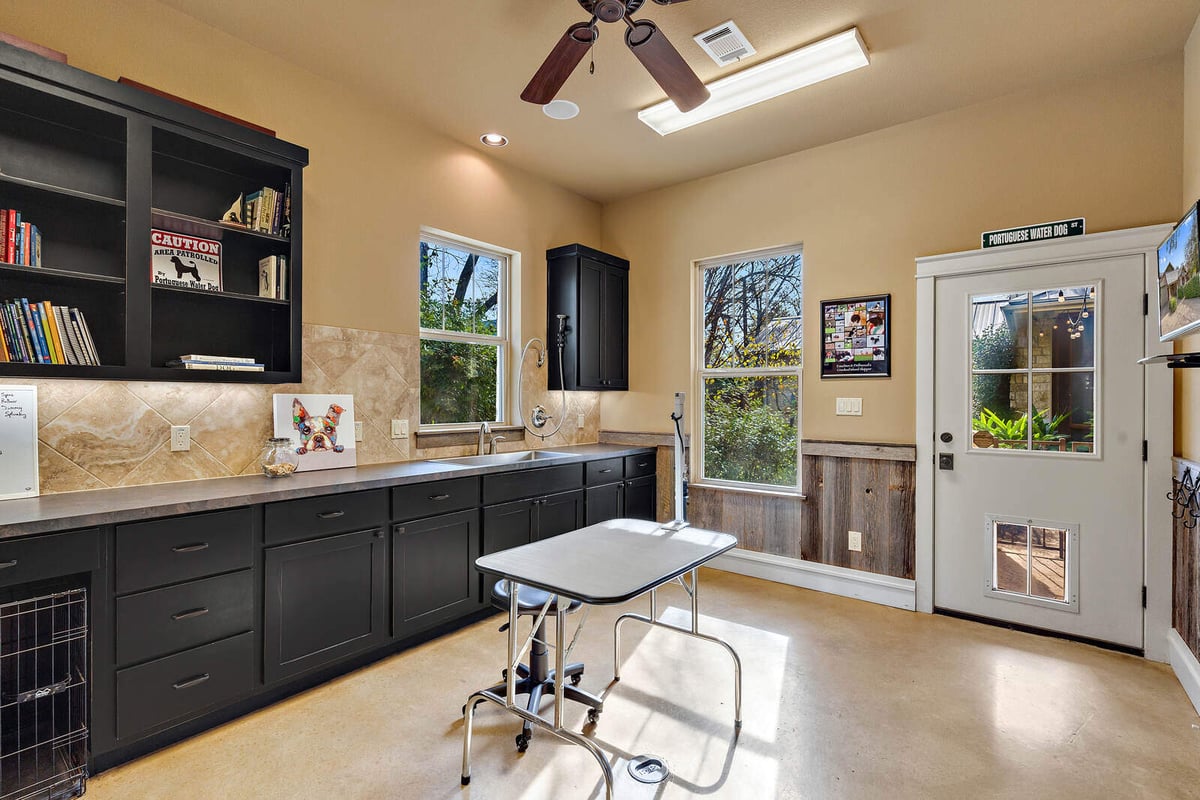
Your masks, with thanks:
M 264 577 L 268 682 L 386 642 L 383 530 L 270 547 L 264 553 Z

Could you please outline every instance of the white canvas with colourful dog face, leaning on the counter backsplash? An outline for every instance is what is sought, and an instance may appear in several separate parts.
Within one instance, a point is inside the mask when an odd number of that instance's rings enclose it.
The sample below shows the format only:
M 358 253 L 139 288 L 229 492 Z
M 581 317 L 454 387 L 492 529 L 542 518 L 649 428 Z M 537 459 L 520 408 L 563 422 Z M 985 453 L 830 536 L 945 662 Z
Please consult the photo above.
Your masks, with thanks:
M 272 395 L 275 435 L 292 439 L 298 473 L 354 467 L 353 395 Z

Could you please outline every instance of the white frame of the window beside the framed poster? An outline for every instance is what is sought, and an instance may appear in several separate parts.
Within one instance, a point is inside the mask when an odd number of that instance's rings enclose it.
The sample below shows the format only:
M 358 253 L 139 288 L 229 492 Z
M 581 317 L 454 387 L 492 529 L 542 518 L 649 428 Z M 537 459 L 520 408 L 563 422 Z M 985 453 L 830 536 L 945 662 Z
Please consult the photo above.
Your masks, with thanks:
M 695 486 L 704 487 L 720 487 L 726 489 L 742 489 L 745 492 L 767 493 L 767 494 L 786 494 L 786 495 L 800 495 L 803 497 L 803 482 L 804 471 L 802 469 L 803 464 L 800 461 L 802 441 L 803 441 L 803 422 L 804 422 L 804 350 L 806 349 L 803 344 L 802 335 L 802 356 L 800 363 L 794 367 L 756 367 L 752 369 L 727 369 L 727 368 L 708 368 L 704 366 L 704 271 L 727 266 L 730 264 L 736 264 L 738 261 L 752 261 L 762 260 L 767 258 L 773 258 L 776 255 L 800 255 L 800 291 L 804 291 L 804 245 L 784 245 L 780 247 L 768 247 L 764 249 L 751 249 L 740 253 L 732 253 L 728 255 L 720 255 L 716 258 L 706 258 L 695 261 L 695 308 L 696 308 L 696 320 L 692 325 L 692 338 L 695 341 L 695 363 L 696 363 L 696 381 L 695 381 L 695 401 L 691 407 L 694 409 L 694 419 L 696 420 L 696 427 L 692 431 L 694 441 L 697 447 L 694 452 L 698 456 L 691 459 L 691 477 L 690 481 Z M 802 319 L 803 325 L 803 319 Z M 704 476 L 704 380 L 709 378 L 779 378 L 779 377 L 796 377 L 796 486 L 778 486 L 774 483 L 752 483 L 749 481 L 728 481 L 718 477 L 706 477 Z

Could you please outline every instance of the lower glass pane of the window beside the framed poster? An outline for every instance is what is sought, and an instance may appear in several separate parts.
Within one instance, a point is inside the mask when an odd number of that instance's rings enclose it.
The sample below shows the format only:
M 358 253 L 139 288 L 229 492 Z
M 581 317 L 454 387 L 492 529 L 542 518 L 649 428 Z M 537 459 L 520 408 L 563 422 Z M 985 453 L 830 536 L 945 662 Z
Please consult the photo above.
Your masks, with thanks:
M 704 477 L 797 485 L 799 377 L 704 379 Z

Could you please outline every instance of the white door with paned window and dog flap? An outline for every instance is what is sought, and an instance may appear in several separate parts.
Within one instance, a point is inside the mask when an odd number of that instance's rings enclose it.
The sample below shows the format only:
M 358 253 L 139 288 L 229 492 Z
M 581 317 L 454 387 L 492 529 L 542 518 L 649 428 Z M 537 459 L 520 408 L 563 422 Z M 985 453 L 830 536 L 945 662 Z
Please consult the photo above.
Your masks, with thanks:
M 1142 646 L 1144 261 L 937 279 L 936 607 Z

